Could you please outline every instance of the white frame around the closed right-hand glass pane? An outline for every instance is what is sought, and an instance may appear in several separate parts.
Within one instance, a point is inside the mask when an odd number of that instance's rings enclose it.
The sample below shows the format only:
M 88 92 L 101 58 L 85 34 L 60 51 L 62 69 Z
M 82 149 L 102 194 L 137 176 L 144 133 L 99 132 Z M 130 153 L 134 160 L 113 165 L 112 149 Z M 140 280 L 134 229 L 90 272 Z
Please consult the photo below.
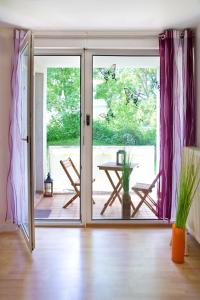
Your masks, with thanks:
M 85 160 L 84 170 L 87 176 L 84 178 L 87 182 L 84 183 L 86 203 L 85 207 L 85 224 L 130 224 L 130 223 L 163 223 L 160 220 L 123 220 L 123 219 L 92 219 L 92 117 L 93 117 L 93 56 L 95 55 L 110 55 L 110 56 L 158 56 L 158 50 L 116 50 L 116 49 L 91 49 L 85 50 L 85 117 L 90 115 L 90 126 L 85 126 Z M 103 206 L 103 204 L 102 204 Z

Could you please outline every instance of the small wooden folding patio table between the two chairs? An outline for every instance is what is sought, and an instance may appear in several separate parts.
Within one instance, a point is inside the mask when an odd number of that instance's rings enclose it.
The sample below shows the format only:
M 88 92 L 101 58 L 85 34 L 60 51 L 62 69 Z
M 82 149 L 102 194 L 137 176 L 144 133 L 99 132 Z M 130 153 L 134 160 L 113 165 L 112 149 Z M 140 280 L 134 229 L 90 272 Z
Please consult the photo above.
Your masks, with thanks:
M 136 164 L 136 163 L 131 164 L 131 167 L 130 167 L 131 172 L 137 166 L 138 166 L 138 164 Z M 107 209 L 107 207 L 109 205 L 111 206 L 116 198 L 118 198 L 120 203 L 122 203 L 120 191 L 122 190 L 122 168 L 123 168 L 123 166 L 117 165 L 114 162 L 107 162 L 107 163 L 104 163 L 97 167 L 99 168 L 99 170 L 103 170 L 106 173 L 106 176 L 108 177 L 108 180 L 113 189 L 113 191 L 111 192 L 111 195 L 109 196 L 108 200 L 104 204 L 104 207 L 101 211 L 101 215 L 103 215 L 105 210 Z M 114 178 L 113 178 L 114 174 L 117 177 L 117 183 L 114 183 Z M 133 210 L 135 210 L 135 207 L 132 202 L 131 202 L 131 206 L 132 206 Z

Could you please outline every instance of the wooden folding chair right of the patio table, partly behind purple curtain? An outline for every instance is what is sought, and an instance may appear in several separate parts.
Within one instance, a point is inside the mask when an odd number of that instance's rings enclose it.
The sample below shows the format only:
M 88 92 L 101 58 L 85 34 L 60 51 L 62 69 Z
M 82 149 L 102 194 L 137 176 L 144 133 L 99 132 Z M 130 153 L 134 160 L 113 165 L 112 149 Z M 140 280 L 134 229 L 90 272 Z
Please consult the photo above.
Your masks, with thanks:
M 139 204 L 135 207 L 135 210 L 133 211 L 131 217 L 133 218 L 142 204 L 146 204 L 146 206 L 157 216 L 157 202 L 150 196 L 150 193 L 152 192 L 153 188 L 155 187 L 158 179 L 161 176 L 161 172 L 158 173 L 156 178 L 153 180 L 151 184 L 146 184 L 146 183 L 136 183 L 133 187 L 132 190 L 138 195 L 140 198 Z

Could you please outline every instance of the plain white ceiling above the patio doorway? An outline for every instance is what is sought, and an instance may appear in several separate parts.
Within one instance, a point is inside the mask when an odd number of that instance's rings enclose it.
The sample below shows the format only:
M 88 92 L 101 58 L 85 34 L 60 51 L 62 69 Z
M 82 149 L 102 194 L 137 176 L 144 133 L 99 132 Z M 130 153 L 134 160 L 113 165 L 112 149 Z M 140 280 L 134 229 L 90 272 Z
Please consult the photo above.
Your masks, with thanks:
M 0 25 L 33 30 L 162 30 L 200 23 L 200 0 L 0 0 Z

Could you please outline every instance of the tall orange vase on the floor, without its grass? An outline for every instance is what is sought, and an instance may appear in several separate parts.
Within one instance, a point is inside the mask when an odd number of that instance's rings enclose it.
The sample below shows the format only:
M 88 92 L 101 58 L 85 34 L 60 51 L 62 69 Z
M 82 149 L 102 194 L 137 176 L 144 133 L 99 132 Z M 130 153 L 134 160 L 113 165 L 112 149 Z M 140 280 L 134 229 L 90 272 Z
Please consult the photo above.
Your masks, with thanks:
M 177 264 L 184 263 L 185 229 L 172 225 L 172 261 Z

